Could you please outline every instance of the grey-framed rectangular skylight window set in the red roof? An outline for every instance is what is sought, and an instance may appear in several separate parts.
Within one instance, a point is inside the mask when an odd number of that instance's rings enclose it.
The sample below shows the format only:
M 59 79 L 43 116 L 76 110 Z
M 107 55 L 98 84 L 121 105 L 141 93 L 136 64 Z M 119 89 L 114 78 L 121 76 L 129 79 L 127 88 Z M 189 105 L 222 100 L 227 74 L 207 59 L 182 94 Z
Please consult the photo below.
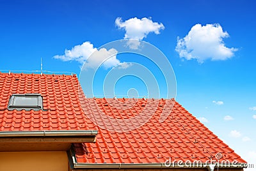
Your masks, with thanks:
M 41 94 L 12 94 L 8 110 L 43 110 Z

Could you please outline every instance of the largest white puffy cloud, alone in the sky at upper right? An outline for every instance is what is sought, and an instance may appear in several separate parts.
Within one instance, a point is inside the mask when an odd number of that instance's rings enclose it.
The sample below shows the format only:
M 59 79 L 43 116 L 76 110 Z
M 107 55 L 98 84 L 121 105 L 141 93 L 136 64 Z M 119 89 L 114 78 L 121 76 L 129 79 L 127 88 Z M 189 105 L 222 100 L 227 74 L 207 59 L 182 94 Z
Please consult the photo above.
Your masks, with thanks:
M 223 38 L 229 35 L 223 31 L 220 24 L 196 24 L 191 28 L 188 35 L 177 40 L 175 50 L 180 57 L 187 60 L 196 59 L 203 63 L 207 59 L 212 61 L 226 60 L 234 56 L 237 48 L 225 47 Z

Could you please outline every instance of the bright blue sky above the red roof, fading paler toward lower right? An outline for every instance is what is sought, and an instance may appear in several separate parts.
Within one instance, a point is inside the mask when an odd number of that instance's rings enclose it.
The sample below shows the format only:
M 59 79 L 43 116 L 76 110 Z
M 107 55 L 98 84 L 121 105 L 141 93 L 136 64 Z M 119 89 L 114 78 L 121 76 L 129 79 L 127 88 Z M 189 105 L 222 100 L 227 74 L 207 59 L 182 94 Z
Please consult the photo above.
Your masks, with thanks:
M 40 70 L 42 57 L 44 70 L 79 75 L 81 63 L 74 59 L 63 61 L 56 56 L 63 56 L 65 49 L 71 50 L 87 41 L 90 43 L 86 48 L 93 50 L 124 39 L 125 33 L 127 38 L 136 38 L 132 37 L 136 29 L 126 21 L 145 18 L 156 26 L 146 33 L 146 24 L 138 39 L 159 48 L 172 64 L 177 79 L 177 101 L 252 163 L 256 161 L 254 8 L 255 1 L 0 0 L 0 70 Z M 118 17 L 122 19 L 119 25 Z M 220 27 L 222 31 L 214 32 Z M 207 40 L 200 40 L 203 33 L 207 34 Z M 185 39 L 186 36 L 191 40 Z M 194 59 L 188 60 L 188 54 L 180 57 L 180 51 L 175 50 L 178 40 L 183 43 L 180 50 L 191 52 Z M 223 45 L 221 49 L 227 53 L 220 50 L 223 52 L 220 54 L 209 45 Z M 207 56 L 209 53 L 215 54 L 215 58 Z M 127 61 L 152 67 L 134 56 L 119 55 L 113 63 Z M 115 93 L 125 94 L 124 89 L 129 90 L 127 85 L 130 84 L 137 87 L 140 96 L 147 95 L 145 86 L 138 79 L 120 80 Z M 164 84 L 161 79 L 159 84 Z M 95 89 L 95 94 L 103 96 L 100 86 Z

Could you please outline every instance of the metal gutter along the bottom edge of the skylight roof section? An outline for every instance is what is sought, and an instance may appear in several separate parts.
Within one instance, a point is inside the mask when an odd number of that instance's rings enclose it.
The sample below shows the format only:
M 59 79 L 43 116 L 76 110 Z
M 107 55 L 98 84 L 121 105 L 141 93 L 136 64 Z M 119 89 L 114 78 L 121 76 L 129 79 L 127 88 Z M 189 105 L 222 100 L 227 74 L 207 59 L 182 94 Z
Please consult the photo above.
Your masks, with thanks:
M 96 136 L 97 130 L 0 131 L 0 137 L 74 137 Z

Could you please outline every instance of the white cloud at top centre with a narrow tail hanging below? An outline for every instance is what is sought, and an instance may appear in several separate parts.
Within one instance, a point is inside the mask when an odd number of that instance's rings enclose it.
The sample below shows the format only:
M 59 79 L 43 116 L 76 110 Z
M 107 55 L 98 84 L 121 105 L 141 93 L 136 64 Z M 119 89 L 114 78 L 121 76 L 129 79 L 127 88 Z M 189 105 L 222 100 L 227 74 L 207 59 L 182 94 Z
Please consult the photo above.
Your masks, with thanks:
M 149 33 L 160 34 L 160 30 L 164 29 L 162 23 L 153 22 L 151 18 L 138 19 L 134 17 L 129 20 L 122 21 L 121 17 L 116 18 L 115 24 L 119 29 L 125 30 L 125 39 L 133 39 L 137 41 L 129 41 L 128 46 L 132 49 L 138 49 L 140 42 L 138 40 L 143 40 Z

